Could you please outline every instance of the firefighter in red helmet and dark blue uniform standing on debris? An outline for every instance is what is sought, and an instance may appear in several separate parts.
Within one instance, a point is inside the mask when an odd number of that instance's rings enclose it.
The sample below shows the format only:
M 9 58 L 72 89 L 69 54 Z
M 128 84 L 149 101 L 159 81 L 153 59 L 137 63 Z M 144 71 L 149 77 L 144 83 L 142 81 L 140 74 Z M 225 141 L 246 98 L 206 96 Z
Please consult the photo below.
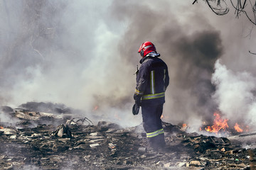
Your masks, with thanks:
M 161 60 L 160 54 L 152 42 L 146 41 L 139 47 L 142 64 L 137 71 L 137 86 L 134 93 L 135 104 L 133 114 L 139 113 L 142 108 L 143 127 L 146 131 L 149 148 L 163 149 L 165 146 L 164 129 L 161 124 L 161 115 L 165 102 L 165 91 L 169 85 L 169 74 L 166 63 Z

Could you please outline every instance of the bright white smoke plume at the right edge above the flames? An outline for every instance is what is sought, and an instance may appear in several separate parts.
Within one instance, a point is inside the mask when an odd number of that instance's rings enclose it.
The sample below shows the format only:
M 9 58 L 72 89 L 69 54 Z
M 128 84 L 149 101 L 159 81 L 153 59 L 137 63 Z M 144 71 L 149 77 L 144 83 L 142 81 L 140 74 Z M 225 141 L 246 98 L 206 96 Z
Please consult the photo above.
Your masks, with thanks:
M 249 72 L 233 72 L 218 60 L 212 81 L 216 86 L 213 98 L 221 113 L 233 123 L 255 128 L 255 77 Z

